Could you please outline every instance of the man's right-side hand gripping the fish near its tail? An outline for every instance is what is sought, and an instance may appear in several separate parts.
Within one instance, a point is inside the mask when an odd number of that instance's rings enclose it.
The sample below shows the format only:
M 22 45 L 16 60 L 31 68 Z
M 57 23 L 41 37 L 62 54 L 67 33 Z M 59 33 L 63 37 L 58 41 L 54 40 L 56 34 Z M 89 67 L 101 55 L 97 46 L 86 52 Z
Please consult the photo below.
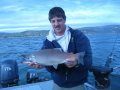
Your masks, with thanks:
M 68 67 L 68 68 L 72 68 L 74 67 L 75 65 L 77 65 L 77 59 L 76 59 L 76 55 L 73 54 L 73 53 L 70 53 L 68 58 L 66 59 L 66 63 L 65 65 Z

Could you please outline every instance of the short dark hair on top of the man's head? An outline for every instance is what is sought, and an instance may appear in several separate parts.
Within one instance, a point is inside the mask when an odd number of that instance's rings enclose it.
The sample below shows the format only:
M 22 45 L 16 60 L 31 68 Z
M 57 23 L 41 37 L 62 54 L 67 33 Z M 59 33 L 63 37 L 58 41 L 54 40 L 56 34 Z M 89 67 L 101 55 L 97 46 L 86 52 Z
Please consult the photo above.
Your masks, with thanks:
M 64 20 L 66 20 L 65 12 L 61 7 L 53 7 L 50 9 L 48 17 L 49 21 L 55 16 L 62 17 Z

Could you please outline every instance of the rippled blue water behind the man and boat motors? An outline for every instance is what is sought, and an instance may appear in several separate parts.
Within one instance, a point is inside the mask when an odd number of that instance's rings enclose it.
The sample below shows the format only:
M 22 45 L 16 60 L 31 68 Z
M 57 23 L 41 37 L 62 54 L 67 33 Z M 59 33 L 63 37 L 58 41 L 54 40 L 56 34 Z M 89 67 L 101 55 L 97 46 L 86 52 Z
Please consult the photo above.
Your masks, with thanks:
M 88 34 L 93 51 L 93 64 L 104 65 L 112 51 L 116 34 Z M 37 51 L 41 48 L 45 37 L 22 37 L 22 38 L 0 38 L 0 62 L 7 59 L 17 60 L 19 65 L 20 83 L 24 84 L 26 72 L 30 68 L 20 63 L 21 55 Z M 114 61 L 111 67 L 120 66 L 120 35 L 114 49 Z M 50 78 L 50 74 L 45 70 L 37 70 L 40 77 Z M 115 70 L 113 74 L 120 75 L 120 70 Z

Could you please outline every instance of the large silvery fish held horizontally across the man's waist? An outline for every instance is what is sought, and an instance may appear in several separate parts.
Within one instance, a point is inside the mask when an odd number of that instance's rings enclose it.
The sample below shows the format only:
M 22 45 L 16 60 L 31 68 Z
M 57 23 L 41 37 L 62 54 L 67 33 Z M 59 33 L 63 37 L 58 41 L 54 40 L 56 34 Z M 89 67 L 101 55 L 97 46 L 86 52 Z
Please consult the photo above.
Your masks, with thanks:
M 79 53 L 81 56 L 83 52 Z M 60 49 L 43 49 L 25 56 L 23 63 L 36 62 L 41 65 L 50 66 L 67 63 L 68 57 L 78 57 L 78 54 L 63 52 Z

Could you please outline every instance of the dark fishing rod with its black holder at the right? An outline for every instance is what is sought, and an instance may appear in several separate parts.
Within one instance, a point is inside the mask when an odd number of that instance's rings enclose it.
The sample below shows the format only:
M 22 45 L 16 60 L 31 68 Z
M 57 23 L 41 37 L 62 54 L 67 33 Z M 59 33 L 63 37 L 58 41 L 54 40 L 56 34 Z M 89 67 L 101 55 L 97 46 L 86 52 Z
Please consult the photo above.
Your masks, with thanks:
M 116 27 L 118 28 L 118 27 Z M 115 46 L 117 43 L 117 39 L 118 39 L 118 34 L 116 32 L 116 38 L 114 40 L 113 43 L 113 47 L 112 50 L 109 54 L 109 56 L 107 57 L 107 60 L 105 62 L 104 66 L 92 66 L 91 67 L 91 71 L 93 72 L 93 75 L 95 77 L 95 86 L 97 89 L 107 89 L 110 88 L 110 74 L 111 72 L 113 72 L 116 69 L 119 69 L 120 66 L 114 67 L 114 68 L 110 68 L 110 64 L 111 62 L 114 60 L 114 51 L 115 51 Z M 93 89 L 95 90 L 95 89 Z

